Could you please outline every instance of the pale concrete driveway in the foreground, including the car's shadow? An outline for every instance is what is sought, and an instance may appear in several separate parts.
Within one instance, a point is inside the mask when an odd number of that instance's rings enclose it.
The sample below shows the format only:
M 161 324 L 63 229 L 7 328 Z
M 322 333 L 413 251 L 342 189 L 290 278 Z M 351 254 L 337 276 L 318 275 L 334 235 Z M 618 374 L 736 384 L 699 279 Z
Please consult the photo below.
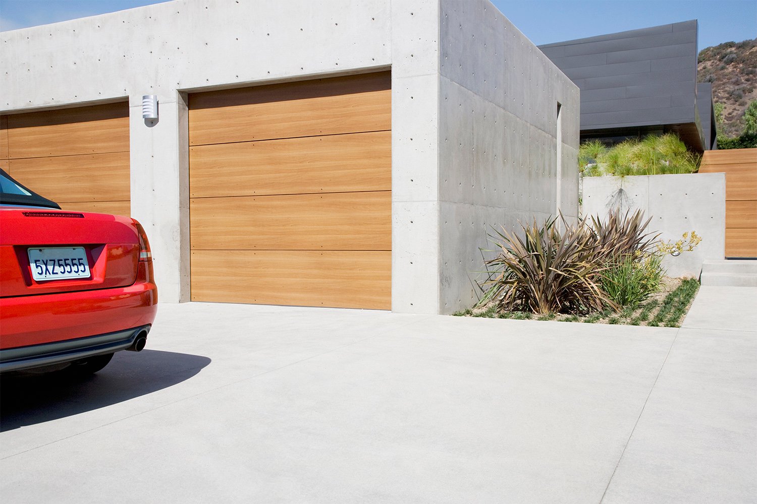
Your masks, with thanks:
M 3 502 L 757 502 L 757 289 L 684 328 L 161 305 L 2 380 Z

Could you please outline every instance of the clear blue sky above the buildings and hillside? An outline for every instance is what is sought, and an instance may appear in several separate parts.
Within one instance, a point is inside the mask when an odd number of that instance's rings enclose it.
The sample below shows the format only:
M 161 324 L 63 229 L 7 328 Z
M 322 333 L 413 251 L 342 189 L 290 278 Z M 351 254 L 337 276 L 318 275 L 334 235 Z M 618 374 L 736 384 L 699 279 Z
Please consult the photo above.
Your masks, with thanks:
M 161 1 L 0 0 L 0 31 Z M 699 20 L 699 49 L 729 40 L 757 38 L 757 0 L 494 0 L 493 3 L 536 45 L 691 19 Z

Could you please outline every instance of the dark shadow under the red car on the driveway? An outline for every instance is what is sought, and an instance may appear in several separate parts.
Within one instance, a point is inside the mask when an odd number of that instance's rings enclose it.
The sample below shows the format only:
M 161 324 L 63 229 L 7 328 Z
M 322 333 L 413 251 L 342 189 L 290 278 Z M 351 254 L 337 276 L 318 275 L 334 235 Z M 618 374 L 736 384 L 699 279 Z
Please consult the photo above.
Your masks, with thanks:
M 0 432 L 150 394 L 192 378 L 209 363 L 200 355 L 120 351 L 104 369 L 86 378 L 8 374 L 0 379 Z

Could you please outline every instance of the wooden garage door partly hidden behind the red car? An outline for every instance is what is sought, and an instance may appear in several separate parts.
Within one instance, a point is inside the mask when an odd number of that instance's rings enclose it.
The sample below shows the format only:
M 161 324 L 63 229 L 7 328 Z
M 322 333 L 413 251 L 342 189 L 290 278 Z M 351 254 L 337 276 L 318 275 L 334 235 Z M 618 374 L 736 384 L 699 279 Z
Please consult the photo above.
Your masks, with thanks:
M 129 104 L 0 116 L 0 165 L 63 209 L 129 215 Z

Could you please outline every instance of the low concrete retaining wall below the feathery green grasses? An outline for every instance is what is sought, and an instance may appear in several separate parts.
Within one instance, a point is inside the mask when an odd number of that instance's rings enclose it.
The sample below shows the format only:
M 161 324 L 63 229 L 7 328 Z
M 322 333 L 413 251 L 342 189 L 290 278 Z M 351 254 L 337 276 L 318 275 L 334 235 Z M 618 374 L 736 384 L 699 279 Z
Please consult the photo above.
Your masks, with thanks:
M 652 218 L 648 230 L 676 242 L 692 230 L 702 237 L 693 252 L 665 256 L 671 277 L 696 277 L 706 259 L 725 255 L 725 174 L 585 177 L 583 215 L 606 216 L 610 209 L 641 209 Z

